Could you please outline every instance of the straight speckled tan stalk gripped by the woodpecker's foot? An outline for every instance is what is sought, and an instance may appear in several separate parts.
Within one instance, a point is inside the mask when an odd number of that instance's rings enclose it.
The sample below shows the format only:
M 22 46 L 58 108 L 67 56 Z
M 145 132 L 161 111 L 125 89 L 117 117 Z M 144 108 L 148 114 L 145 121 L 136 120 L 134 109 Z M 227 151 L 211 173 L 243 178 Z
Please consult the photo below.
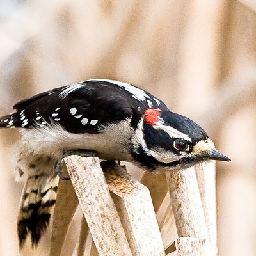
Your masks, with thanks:
M 97 157 L 64 159 L 99 255 L 132 255 Z

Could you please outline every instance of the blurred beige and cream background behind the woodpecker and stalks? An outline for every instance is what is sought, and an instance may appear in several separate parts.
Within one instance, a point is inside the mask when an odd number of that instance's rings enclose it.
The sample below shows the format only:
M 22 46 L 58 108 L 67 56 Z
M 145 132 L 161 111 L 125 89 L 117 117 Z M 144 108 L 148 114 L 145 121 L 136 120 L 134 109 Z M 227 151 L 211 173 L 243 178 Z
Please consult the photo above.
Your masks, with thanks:
M 0 1 L 1 115 L 93 78 L 139 86 L 205 128 L 232 159 L 216 166 L 219 255 L 255 256 L 256 1 Z M 19 132 L 0 138 L 0 255 L 19 255 Z M 47 239 L 27 255 L 46 255 Z

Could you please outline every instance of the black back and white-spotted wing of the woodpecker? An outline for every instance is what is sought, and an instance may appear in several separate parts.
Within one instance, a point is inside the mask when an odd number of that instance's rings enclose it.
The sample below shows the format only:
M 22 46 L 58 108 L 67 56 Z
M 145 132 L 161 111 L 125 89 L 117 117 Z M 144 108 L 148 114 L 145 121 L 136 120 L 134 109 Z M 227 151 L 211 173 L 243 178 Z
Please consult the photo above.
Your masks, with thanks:
M 130 84 L 88 80 L 40 93 L 13 106 L 0 126 L 35 127 L 58 123 L 68 132 L 96 133 L 109 123 L 131 118 L 135 128 L 148 108 L 168 110 L 161 100 Z

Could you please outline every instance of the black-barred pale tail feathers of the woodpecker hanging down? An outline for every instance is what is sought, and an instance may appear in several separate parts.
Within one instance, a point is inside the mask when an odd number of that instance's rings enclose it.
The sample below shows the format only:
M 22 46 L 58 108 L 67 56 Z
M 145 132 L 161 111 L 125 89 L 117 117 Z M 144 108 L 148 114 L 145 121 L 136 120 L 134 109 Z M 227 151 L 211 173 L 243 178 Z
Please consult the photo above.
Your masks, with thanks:
M 18 216 L 19 246 L 22 248 L 28 235 L 37 245 L 51 217 L 56 201 L 59 178 L 46 175 L 28 177 L 23 189 Z

